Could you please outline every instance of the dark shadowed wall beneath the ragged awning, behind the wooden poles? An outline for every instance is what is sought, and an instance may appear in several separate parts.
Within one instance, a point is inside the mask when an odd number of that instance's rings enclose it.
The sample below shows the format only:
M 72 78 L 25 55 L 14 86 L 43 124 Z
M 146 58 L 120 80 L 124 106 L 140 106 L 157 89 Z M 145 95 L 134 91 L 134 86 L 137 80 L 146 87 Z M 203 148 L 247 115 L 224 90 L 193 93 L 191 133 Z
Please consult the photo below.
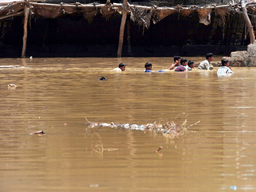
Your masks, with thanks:
M 56 19 L 33 17 L 31 29 L 28 27 L 26 56 L 116 57 L 121 17 L 116 14 L 107 21 L 99 14 L 92 23 L 82 15 Z M 196 12 L 189 17 L 174 13 L 157 24 L 151 23 L 144 33 L 142 26 L 127 18 L 127 22 L 131 23 L 132 56 L 204 55 L 206 50 L 229 55 L 231 51 L 246 49 L 241 45 L 249 44 L 250 38 L 243 39 L 244 22 L 241 16 L 230 15 L 224 30 L 218 25 L 220 20 L 214 12 L 211 18 L 211 24 L 206 26 L 199 23 Z M 22 17 L 0 21 L 0 24 L 3 26 L 0 31 L 0 57 L 20 57 Z M 128 56 L 127 27 L 123 56 Z

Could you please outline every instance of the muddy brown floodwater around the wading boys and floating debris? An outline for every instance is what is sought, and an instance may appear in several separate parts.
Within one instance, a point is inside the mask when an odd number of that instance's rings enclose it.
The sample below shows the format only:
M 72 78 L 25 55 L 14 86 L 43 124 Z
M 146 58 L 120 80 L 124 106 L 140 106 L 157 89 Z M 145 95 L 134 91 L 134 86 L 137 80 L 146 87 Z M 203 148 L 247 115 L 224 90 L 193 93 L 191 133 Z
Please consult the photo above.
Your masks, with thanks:
M 126 70 L 111 72 L 120 62 Z M 146 62 L 161 70 L 173 59 L 2 58 L 0 65 L 30 68 L 0 68 L 1 192 L 256 191 L 256 68 L 143 73 Z M 90 128 L 85 117 L 200 123 L 168 139 Z M 46 134 L 30 135 L 40 130 Z M 96 153 L 97 144 L 113 150 Z

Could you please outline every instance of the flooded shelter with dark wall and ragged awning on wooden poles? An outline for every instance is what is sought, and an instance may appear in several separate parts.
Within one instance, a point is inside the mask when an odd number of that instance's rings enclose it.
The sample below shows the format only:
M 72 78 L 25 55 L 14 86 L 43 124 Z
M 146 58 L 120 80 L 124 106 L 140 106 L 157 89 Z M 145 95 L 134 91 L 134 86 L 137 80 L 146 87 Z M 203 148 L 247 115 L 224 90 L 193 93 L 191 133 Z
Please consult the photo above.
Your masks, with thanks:
M 27 36 L 24 36 L 27 6 Z M 254 2 L 247 12 L 255 31 Z M 0 2 L 0 57 L 227 55 L 250 44 L 240 2 L 225 0 Z M 25 19 L 24 19 L 25 18 Z M 249 31 L 249 32 L 248 32 Z M 25 34 L 25 35 L 24 35 Z M 120 45 L 119 45 L 120 48 Z

